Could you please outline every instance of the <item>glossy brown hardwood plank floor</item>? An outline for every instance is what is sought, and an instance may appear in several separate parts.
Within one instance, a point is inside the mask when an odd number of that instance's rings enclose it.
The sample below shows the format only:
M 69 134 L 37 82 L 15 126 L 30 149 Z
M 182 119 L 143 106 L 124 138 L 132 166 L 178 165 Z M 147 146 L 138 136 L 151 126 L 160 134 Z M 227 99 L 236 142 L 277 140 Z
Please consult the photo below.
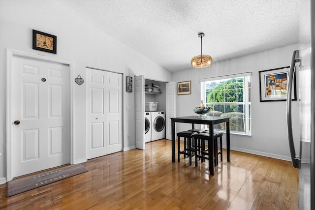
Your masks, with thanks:
M 183 155 L 181 155 L 183 158 Z M 8 210 L 298 210 L 298 170 L 291 162 L 231 151 L 210 176 L 208 162 L 171 161 L 171 141 L 146 143 L 82 163 L 89 171 L 6 198 Z

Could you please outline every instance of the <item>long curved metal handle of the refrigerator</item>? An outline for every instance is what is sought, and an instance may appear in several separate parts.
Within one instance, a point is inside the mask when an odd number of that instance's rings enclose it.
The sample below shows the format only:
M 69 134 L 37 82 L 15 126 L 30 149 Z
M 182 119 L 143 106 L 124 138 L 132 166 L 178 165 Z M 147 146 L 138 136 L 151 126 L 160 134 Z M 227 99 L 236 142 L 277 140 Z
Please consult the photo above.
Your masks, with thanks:
M 294 168 L 301 167 L 301 158 L 296 155 L 294 142 L 293 142 L 293 132 L 292 132 L 292 117 L 291 117 L 291 103 L 292 103 L 292 83 L 293 77 L 295 75 L 295 63 L 300 61 L 299 50 L 293 51 L 292 60 L 290 64 L 287 95 L 286 95 L 286 125 L 289 140 L 290 153 L 292 158 L 292 164 Z

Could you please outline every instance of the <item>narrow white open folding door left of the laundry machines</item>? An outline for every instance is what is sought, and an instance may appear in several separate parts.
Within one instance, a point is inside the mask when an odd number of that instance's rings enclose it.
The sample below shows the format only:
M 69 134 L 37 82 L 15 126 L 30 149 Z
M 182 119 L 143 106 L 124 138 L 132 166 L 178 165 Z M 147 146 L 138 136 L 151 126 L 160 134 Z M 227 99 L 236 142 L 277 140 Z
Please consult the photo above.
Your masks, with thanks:
M 135 76 L 136 148 L 145 149 L 144 139 L 144 76 Z

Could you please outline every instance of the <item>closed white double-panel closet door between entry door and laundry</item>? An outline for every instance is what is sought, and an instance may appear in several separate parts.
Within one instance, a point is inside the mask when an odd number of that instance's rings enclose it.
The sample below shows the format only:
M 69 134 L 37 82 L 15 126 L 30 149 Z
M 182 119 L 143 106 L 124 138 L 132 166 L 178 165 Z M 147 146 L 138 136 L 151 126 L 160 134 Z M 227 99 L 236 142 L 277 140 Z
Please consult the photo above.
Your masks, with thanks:
M 123 150 L 122 74 L 87 68 L 87 158 Z

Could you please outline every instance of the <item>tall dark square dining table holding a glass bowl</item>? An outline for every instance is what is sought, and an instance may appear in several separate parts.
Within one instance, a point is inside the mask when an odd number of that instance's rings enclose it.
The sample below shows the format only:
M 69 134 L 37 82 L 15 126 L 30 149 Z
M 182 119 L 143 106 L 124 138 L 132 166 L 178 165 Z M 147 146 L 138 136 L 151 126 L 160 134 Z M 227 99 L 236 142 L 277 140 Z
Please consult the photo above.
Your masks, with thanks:
M 214 132 L 214 125 L 219 124 L 222 122 L 226 123 L 226 157 L 227 161 L 230 162 L 230 120 L 229 117 L 213 117 L 213 116 L 187 116 L 187 117 L 177 117 L 171 118 L 172 123 L 172 162 L 175 162 L 175 122 L 183 122 L 183 123 L 190 123 L 191 128 L 194 129 L 194 124 L 207 124 L 209 125 L 209 135 L 212 136 L 212 144 L 214 144 L 213 140 L 213 132 Z M 214 145 L 213 147 L 214 148 Z M 214 170 L 214 158 L 212 159 L 212 163 L 210 162 L 210 175 L 215 174 Z

